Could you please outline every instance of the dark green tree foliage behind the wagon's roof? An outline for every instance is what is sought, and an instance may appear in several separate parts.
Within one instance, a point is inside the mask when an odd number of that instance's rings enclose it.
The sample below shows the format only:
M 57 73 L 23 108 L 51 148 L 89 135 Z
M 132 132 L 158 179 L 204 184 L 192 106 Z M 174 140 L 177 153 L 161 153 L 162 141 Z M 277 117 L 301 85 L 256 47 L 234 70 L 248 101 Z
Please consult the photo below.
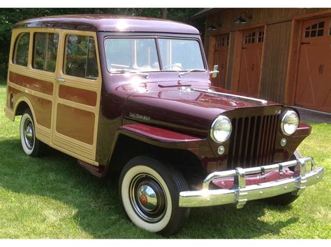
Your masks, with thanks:
M 193 24 L 198 29 L 201 24 L 193 23 L 190 17 L 199 8 L 0 8 L 0 78 L 6 78 L 11 30 L 15 23 L 24 19 L 50 15 L 107 14 L 156 17 Z M 200 29 L 201 30 L 201 29 Z

